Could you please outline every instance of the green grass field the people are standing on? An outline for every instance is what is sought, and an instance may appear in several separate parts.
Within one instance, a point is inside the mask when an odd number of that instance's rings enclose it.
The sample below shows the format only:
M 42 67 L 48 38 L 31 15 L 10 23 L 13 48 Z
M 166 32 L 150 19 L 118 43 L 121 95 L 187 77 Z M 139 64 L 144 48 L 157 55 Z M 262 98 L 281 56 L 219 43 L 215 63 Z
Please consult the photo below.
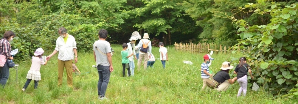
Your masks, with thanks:
M 166 46 L 167 47 L 167 46 Z M 275 98 L 268 91 L 260 89 L 253 91 L 248 87 L 246 97 L 236 97 L 240 88 L 238 82 L 229 86 L 226 92 L 215 90 L 201 91 L 203 85 L 200 67 L 204 54 L 176 51 L 168 48 L 169 61 L 166 68 L 162 68 L 160 60 L 156 60 L 154 67 L 144 70 L 143 66 L 137 70 L 135 60 L 135 75 L 122 76 L 121 45 L 112 45 L 115 53 L 112 56 L 114 72 L 111 73 L 110 82 L 106 91 L 109 100 L 98 100 L 97 69 L 93 52 L 78 52 L 77 67 L 80 75 L 73 73 L 73 88 L 67 86 L 66 72 L 63 74 L 63 85 L 58 84 L 57 54 L 46 65 L 41 66 L 41 81 L 38 89 L 34 89 L 31 81 L 25 92 L 23 88 L 27 81 L 26 75 L 30 70 L 31 60 L 18 63 L 18 83 L 16 83 L 16 70 L 10 69 L 10 77 L 4 89 L 0 89 L 1 104 L 297 104 L 297 99 Z M 53 50 L 45 50 L 48 56 Z M 80 49 L 78 49 L 80 51 Z M 159 58 L 159 48 L 153 47 L 155 59 Z M 240 58 L 242 54 L 213 53 L 210 70 L 219 71 L 222 62 L 232 58 Z M 17 58 L 17 57 L 15 57 Z M 192 65 L 183 63 L 183 60 L 193 62 Z M 235 66 L 236 64 L 234 64 Z M 252 70 L 255 71 L 255 70 Z M 232 73 L 232 72 L 231 72 Z M 127 71 L 126 71 L 127 74 Z M 252 83 L 251 83 L 252 84 Z

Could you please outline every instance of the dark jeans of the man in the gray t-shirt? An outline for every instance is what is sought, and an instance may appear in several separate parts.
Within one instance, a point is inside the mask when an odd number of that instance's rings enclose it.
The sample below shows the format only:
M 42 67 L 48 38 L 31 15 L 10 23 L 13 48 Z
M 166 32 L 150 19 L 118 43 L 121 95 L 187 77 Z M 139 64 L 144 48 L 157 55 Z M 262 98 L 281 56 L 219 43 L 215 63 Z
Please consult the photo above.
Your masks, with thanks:
M 104 97 L 105 91 L 107 90 L 108 83 L 110 81 L 110 75 L 111 75 L 110 66 L 98 65 L 97 71 L 99 76 L 99 80 L 97 84 L 98 96 Z

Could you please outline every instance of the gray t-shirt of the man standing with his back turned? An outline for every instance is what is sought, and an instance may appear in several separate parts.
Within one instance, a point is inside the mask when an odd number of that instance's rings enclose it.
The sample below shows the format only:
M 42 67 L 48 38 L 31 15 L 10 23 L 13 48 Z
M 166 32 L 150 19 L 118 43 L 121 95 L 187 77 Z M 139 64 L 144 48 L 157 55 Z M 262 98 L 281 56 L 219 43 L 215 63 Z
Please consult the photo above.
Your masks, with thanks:
M 97 47 L 99 51 L 95 47 Z M 110 66 L 107 57 L 107 53 L 111 53 L 111 46 L 109 42 L 105 40 L 97 40 L 93 44 L 93 50 L 96 56 L 96 66 Z

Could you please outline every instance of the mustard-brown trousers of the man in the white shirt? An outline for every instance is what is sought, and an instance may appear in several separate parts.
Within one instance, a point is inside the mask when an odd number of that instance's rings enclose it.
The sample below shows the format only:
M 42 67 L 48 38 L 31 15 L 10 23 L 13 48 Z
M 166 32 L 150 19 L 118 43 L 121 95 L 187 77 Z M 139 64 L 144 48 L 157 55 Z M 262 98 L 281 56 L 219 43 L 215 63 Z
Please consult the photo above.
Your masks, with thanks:
M 58 59 L 58 86 L 62 85 L 63 70 L 66 70 L 67 85 L 72 87 L 72 60 L 62 61 Z

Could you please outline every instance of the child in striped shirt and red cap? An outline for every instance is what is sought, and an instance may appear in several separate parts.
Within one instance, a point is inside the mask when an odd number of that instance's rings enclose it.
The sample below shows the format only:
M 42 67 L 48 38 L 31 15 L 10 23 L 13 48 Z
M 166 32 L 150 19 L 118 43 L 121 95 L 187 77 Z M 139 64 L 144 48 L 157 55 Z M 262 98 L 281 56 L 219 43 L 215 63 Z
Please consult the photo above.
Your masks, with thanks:
M 212 74 L 209 73 L 209 66 L 211 65 L 211 60 L 214 59 L 211 58 L 209 54 L 204 55 L 204 62 L 201 64 L 201 78 L 203 79 L 203 87 L 201 91 L 203 91 L 207 86 L 206 81 L 209 78 L 209 76 L 212 77 Z

